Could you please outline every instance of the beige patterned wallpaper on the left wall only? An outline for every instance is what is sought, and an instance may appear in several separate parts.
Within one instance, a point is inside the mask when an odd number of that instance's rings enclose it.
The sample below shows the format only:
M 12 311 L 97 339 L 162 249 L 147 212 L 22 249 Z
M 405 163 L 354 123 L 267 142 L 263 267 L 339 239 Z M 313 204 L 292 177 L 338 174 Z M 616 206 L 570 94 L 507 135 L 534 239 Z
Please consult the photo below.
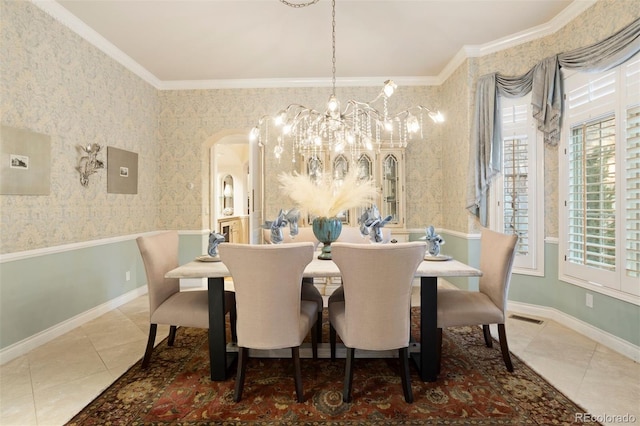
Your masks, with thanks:
M 1 252 L 149 231 L 158 220 L 155 88 L 27 1 L 0 3 L 2 125 L 51 136 L 51 192 L 0 196 Z M 78 145 L 138 153 L 138 195 L 80 185 Z

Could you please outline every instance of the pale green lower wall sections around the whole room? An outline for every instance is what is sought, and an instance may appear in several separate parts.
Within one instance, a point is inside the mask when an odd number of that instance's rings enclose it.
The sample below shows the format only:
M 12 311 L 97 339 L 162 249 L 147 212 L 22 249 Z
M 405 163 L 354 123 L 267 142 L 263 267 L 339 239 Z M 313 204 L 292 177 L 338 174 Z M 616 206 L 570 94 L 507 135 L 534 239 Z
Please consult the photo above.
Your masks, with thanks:
M 415 241 L 423 234 L 413 233 Z M 444 254 L 478 265 L 480 241 L 442 232 Z M 180 235 L 180 263 L 204 254 L 208 234 Z M 640 307 L 558 280 L 558 246 L 545 244 L 545 276 L 514 274 L 509 300 L 555 309 L 640 346 Z M 126 281 L 126 272 L 130 280 Z M 450 281 L 477 289 L 477 278 Z M 143 287 L 144 266 L 135 237 L 0 263 L 0 350 Z M 585 294 L 593 295 L 593 308 Z

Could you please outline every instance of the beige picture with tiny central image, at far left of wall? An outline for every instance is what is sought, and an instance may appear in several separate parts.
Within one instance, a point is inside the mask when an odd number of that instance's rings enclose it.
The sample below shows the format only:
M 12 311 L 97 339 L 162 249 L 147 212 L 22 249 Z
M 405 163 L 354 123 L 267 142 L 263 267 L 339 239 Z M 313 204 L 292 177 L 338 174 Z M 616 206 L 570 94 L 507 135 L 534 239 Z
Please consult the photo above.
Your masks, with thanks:
M 26 129 L 0 128 L 0 194 L 49 195 L 51 138 Z

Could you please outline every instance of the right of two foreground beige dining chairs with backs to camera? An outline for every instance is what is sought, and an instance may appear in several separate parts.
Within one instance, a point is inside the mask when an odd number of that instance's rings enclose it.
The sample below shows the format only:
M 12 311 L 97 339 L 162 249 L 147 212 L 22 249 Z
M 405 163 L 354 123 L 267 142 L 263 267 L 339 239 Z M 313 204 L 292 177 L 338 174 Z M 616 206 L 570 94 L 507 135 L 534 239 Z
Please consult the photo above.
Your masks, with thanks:
M 336 334 L 347 348 L 342 399 L 351 401 L 355 349 L 398 350 L 406 402 L 413 402 L 409 374 L 411 285 L 426 244 L 331 244 L 344 279 L 344 300 L 329 305 L 331 359 Z

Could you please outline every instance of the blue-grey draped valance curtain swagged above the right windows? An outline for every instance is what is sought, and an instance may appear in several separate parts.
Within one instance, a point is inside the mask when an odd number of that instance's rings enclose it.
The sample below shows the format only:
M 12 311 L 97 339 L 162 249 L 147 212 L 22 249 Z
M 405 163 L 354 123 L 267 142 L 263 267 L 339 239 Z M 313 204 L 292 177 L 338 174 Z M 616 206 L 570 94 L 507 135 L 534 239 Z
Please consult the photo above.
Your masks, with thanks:
M 582 71 L 605 71 L 630 59 L 640 51 L 640 19 L 605 40 L 567 53 L 546 58 L 526 74 L 505 77 L 498 73 L 478 79 L 474 128 L 471 137 L 473 185 L 467 209 L 487 225 L 487 191 L 502 164 L 500 96 L 507 98 L 531 94 L 533 117 L 544 141 L 556 145 L 560 140 L 562 118 L 562 77 L 560 67 Z

